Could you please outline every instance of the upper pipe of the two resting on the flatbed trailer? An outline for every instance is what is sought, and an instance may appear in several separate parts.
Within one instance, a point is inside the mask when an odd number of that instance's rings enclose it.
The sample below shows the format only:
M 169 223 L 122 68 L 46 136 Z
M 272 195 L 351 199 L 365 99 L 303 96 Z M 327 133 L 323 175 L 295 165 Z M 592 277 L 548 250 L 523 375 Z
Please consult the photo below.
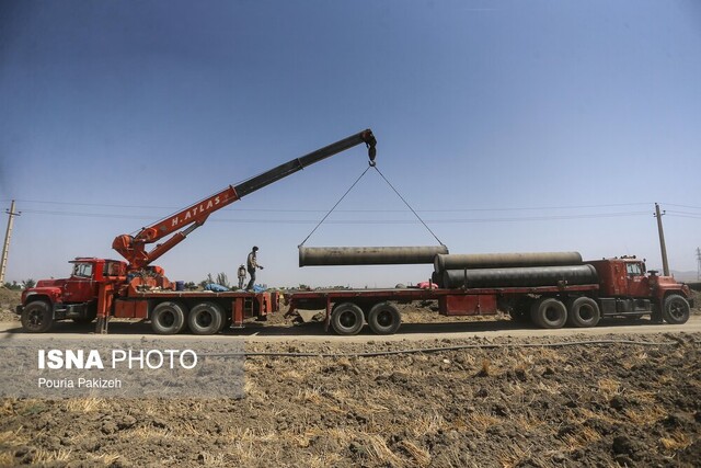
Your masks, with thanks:
M 458 269 L 512 269 L 525 266 L 581 265 L 579 252 L 524 252 L 438 254 L 434 261 L 437 272 Z

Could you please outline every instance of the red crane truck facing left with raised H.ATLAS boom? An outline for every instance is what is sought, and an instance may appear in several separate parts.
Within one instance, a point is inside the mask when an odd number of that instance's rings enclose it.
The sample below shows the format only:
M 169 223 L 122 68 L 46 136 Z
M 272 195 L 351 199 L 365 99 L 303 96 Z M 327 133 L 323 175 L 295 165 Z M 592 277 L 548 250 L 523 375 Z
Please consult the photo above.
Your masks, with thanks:
M 97 318 L 96 331 L 107 332 L 110 317 L 149 319 L 154 332 L 177 333 L 187 326 L 195 334 L 217 333 L 226 326 L 241 327 L 246 317 L 265 316 L 277 310 L 277 294 L 246 292 L 176 290 L 163 274 L 151 265 L 202 226 L 209 215 L 290 175 L 310 164 L 357 145 L 368 148 L 370 165 L 375 165 L 376 139 L 370 129 L 359 132 L 301 158 L 249 179 L 171 215 L 136 236 L 117 236 L 112 243 L 127 261 L 78 258 L 68 278 L 42 279 L 22 293 L 16 313 L 27 332 L 42 333 L 57 320 L 91 322 Z M 150 251 L 149 244 L 171 236 Z

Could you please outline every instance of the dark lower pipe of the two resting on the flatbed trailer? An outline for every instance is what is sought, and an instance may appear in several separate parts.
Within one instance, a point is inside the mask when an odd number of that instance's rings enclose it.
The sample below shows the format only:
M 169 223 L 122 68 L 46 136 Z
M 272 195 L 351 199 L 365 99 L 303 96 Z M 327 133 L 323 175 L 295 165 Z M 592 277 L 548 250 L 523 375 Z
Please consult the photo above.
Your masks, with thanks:
M 444 287 L 537 287 L 559 284 L 597 284 L 591 265 L 533 266 L 527 269 L 446 270 Z

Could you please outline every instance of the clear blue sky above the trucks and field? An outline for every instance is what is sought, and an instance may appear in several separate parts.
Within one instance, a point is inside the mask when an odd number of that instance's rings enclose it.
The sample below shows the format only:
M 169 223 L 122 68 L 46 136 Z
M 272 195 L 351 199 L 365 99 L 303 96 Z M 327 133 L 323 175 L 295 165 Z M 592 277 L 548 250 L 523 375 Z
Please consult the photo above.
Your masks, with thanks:
M 671 269 L 701 247 L 701 7 L 688 1 L 0 4 L 7 279 L 118 258 L 120 233 L 364 128 L 453 253 L 576 250 Z M 268 285 L 391 286 L 428 265 L 303 267 L 367 167 L 354 148 L 216 213 L 158 264 Z M 7 217 L 3 217 L 2 225 Z M 436 240 L 374 171 L 307 241 Z

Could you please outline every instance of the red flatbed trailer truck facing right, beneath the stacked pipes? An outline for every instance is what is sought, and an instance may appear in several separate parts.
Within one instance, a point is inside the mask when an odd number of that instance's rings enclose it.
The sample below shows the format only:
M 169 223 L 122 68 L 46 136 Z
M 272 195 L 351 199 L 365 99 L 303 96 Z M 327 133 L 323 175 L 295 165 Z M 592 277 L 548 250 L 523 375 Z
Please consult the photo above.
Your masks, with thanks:
M 578 255 L 578 254 L 577 254 Z M 536 272 L 540 267 L 508 269 Z M 542 267 L 548 271 L 548 267 Z M 565 266 L 564 269 L 567 269 Z M 392 334 L 399 330 L 401 313 L 395 304 L 437 300 L 444 316 L 486 316 L 497 310 L 508 311 L 514 319 L 530 319 L 536 326 L 556 329 L 595 327 L 602 317 L 640 318 L 644 315 L 653 321 L 685 323 L 689 319 L 689 287 L 671 276 L 659 276 L 656 271 L 645 271 L 645 262 L 634 256 L 604 259 L 573 266 L 584 271 L 583 282 L 558 279 L 539 284 L 514 281 L 512 285 L 473 287 L 472 271 L 455 271 L 450 284 L 428 288 L 400 289 L 336 289 L 295 292 L 286 295 L 288 313 L 296 310 L 325 310 L 326 330 L 353 335 L 365 323 L 378 334 Z M 479 272 L 485 272 L 484 270 Z M 503 274 L 504 270 L 490 271 Z M 587 273 L 588 272 L 588 273 Z M 462 281 L 461 276 L 464 276 Z M 484 274 L 482 274 L 484 276 Z M 536 275 L 537 276 L 537 275 Z M 519 276 L 522 278 L 522 275 Z M 462 284 L 460 284 L 462 282 Z

